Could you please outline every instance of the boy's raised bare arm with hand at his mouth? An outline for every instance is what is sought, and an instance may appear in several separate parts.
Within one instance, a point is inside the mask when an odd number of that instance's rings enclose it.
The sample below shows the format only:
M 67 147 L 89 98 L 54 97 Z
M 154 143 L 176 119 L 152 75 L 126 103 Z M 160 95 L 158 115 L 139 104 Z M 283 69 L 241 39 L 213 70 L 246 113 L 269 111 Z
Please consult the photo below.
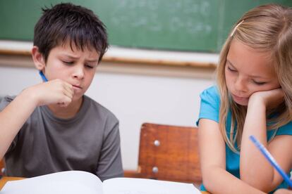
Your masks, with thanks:
M 23 90 L 0 112 L 0 158 L 4 157 L 13 138 L 38 105 L 61 103 L 66 106 L 72 97 L 72 86 L 59 79 Z

